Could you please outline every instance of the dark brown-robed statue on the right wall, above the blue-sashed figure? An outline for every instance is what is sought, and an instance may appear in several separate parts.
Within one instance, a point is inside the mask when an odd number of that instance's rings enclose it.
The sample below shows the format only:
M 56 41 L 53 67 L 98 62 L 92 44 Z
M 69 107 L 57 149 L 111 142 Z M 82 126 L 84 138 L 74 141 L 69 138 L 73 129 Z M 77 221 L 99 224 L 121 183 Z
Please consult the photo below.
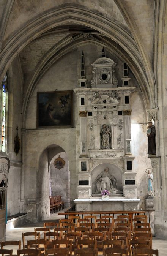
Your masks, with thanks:
M 148 155 L 156 155 L 155 126 L 151 121 L 148 122 L 147 137 L 148 137 Z

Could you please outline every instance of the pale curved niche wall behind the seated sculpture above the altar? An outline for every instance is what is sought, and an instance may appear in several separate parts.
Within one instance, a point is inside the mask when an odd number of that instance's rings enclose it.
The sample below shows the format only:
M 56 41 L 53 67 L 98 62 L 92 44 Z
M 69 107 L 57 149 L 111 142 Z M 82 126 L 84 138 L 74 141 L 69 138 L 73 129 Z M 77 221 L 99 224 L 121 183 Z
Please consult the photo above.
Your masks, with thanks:
M 101 163 L 96 165 L 91 169 L 91 181 L 92 181 L 92 194 L 95 194 L 95 189 L 96 189 L 96 183 L 95 179 L 96 177 L 104 171 L 104 169 L 108 167 L 109 168 L 109 173 L 113 175 L 117 181 L 117 189 L 122 190 L 122 169 L 120 166 L 113 164 L 113 163 Z

